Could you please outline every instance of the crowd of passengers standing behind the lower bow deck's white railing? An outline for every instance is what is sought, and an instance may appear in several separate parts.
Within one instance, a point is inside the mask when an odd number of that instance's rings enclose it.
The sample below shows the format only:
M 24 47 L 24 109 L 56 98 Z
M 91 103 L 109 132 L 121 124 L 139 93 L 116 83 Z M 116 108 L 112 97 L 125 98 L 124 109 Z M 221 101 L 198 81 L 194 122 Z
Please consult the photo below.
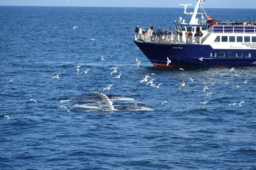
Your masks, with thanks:
M 163 30 L 162 28 L 157 29 L 157 31 L 153 30 L 153 26 L 150 24 L 149 28 L 139 28 L 139 25 L 136 26 L 135 31 L 136 38 L 142 41 L 159 41 L 159 42 L 183 42 L 183 33 L 182 31 L 174 30 L 171 32 L 170 30 L 167 32 L 167 29 Z M 185 38 L 186 42 L 192 42 L 193 37 L 195 41 L 199 42 L 200 37 L 203 36 L 203 33 L 200 30 L 196 30 L 195 35 L 192 34 L 191 31 L 186 31 Z

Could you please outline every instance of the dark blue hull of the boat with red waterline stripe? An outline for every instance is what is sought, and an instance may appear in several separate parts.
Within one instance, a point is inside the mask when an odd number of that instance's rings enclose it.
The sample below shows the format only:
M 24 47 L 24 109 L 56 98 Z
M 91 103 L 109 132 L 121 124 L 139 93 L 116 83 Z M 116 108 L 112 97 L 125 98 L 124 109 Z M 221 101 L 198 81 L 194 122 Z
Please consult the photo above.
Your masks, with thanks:
M 213 49 L 210 45 L 200 44 L 166 44 L 155 42 L 134 43 L 147 56 L 153 65 L 167 66 L 167 57 L 171 60 L 169 67 L 175 66 L 247 66 L 256 65 L 255 49 Z M 243 52 L 242 58 L 237 57 L 211 57 L 211 52 Z M 245 58 L 245 52 L 251 57 Z M 199 58 L 203 57 L 203 61 Z

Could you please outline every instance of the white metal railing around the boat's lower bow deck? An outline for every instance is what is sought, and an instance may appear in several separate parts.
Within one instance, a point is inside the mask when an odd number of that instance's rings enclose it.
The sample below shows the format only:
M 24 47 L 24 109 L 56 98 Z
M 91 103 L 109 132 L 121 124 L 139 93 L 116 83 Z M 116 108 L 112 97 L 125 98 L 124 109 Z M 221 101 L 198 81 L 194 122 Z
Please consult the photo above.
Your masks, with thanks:
M 150 36 L 148 34 L 135 34 L 135 41 L 154 42 L 154 43 L 180 43 L 180 44 L 201 44 L 202 37 L 185 36 Z

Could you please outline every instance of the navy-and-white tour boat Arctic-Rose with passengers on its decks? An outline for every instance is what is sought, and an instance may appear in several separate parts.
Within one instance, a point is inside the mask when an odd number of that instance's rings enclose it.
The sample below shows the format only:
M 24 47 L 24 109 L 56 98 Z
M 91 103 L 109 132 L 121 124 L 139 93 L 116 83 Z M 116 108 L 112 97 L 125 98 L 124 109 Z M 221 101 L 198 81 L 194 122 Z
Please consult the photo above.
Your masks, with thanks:
M 173 23 L 175 30 L 182 32 L 181 36 L 139 32 L 135 33 L 134 43 L 156 66 L 256 65 L 256 25 L 243 22 L 216 25 L 218 22 L 203 9 L 204 3 L 206 0 L 197 0 L 194 12 L 190 13 L 187 7 L 192 4 L 180 4 L 184 6 L 184 14 L 191 15 L 189 23 L 182 17 Z

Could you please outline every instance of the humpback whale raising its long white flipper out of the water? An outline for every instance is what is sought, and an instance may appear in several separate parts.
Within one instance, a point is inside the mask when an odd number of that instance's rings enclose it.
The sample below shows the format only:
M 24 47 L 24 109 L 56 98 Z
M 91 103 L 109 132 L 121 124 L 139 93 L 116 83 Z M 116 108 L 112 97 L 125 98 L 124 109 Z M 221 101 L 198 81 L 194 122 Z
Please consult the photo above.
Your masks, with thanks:
M 103 101 L 108 105 L 108 108 L 113 111 L 113 110 L 142 110 L 142 107 L 138 107 L 138 106 L 113 106 L 113 103 L 111 102 L 111 100 L 108 98 L 107 95 L 100 93 L 100 92 L 91 92 L 91 94 L 96 94 L 98 96 L 100 96 Z

